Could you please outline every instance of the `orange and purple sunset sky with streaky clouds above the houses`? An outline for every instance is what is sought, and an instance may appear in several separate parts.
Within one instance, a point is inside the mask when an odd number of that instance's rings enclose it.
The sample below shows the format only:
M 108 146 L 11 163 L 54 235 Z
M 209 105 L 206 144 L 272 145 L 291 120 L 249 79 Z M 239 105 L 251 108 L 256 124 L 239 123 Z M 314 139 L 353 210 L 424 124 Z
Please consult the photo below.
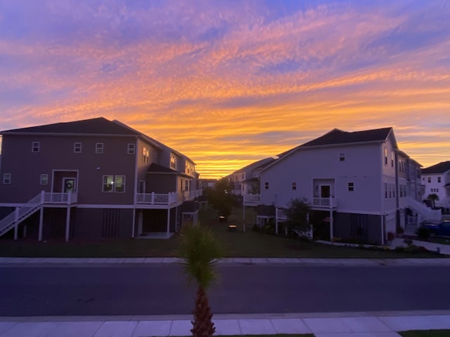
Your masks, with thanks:
M 200 178 L 333 128 L 450 160 L 450 1 L 0 0 L 0 130 L 92 117 Z

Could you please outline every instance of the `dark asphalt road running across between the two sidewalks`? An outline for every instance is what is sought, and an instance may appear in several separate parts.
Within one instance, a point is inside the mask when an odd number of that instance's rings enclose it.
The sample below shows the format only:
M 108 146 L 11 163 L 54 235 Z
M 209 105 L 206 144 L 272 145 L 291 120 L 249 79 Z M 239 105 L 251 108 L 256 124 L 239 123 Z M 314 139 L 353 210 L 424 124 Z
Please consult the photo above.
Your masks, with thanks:
M 450 310 L 450 267 L 221 265 L 214 313 Z M 181 267 L 0 267 L 0 316 L 190 314 Z

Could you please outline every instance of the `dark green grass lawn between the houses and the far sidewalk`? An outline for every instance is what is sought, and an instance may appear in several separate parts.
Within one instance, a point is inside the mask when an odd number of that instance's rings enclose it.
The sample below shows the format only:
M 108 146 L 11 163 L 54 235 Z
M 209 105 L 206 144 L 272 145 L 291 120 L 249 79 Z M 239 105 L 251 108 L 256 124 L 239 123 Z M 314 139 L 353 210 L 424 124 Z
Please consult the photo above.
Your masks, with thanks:
M 234 209 L 227 223 L 219 223 L 213 210 L 200 212 L 200 223 L 212 227 L 226 246 L 226 257 L 301 257 L 301 258 L 434 258 L 430 253 L 370 251 L 349 247 L 299 242 L 296 239 L 253 232 L 244 223 L 252 223 L 252 211 L 243 219 L 242 208 Z M 229 232 L 228 225 L 237 226 Z M 104 239 L 96 242 L 36 239 L 0 240 L 0 256 L 23 257 L 161 257 L 175 256 L 178 237 L 171 239 Z

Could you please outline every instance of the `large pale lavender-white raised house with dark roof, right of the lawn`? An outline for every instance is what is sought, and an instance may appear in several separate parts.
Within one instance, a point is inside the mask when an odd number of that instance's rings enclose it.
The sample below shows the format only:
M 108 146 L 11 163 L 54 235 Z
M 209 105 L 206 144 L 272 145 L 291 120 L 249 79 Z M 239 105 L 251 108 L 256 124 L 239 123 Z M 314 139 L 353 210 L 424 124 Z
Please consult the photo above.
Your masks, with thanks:
M 328 224 L 328 239 L 383 244 L 387 232 L 440 218 L 420 202 L 420 164 L 399 150 L 392 128 L 334 129 L 279 154 L 259 181 L 259 198 L 244 197 L 244 205 L 257 206 L 259 225 L 285 220 L 295 198 L 306 198 Z

